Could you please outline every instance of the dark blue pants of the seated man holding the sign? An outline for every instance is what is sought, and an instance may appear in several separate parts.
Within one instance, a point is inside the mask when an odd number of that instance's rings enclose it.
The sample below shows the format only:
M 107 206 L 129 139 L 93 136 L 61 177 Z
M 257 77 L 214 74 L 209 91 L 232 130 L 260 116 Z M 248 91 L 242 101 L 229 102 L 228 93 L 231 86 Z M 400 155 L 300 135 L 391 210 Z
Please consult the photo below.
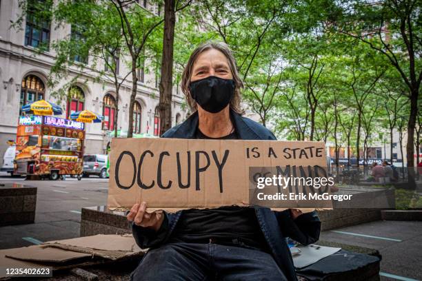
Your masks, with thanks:
M 170 243 L 148 251 L 131 280 L 286 279 L 272 256 L 263 251 L 213 243 Z

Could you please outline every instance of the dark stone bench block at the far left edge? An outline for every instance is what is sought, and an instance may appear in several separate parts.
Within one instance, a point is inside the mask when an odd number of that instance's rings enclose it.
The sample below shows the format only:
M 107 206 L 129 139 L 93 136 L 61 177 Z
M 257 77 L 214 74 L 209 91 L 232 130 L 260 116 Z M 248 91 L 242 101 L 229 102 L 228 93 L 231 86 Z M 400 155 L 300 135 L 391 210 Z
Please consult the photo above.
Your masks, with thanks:
M 34 223 L 37 187 L 0 183 L 0 226 Z

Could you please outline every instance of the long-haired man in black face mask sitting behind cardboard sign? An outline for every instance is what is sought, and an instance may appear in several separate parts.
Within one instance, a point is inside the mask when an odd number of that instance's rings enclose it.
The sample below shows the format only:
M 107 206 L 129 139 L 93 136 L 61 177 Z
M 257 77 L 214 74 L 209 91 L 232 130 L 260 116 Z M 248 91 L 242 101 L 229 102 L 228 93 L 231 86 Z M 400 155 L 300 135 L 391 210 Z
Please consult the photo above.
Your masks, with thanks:
M 200 45 L 186 63 L 181 88 L 192 114 L 165 138 L 275 140 L 241 116 L 241 87 L 232 52 L 222 43 Z M 241 163 L 239 163 L 241 165 Z M 297 280 L 286 242 L 319 238 L 315 212 L 251 206 L 188 209 L 168 214 L 135 204 L 128 220 L 141 248 L 150 248 L 132 280 Z

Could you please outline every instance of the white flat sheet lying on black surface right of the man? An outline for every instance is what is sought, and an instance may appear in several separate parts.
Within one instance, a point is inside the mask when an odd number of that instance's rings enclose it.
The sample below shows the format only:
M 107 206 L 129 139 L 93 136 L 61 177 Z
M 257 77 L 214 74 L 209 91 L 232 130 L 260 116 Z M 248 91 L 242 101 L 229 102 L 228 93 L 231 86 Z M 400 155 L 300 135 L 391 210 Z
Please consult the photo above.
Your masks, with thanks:
M 299 246 L 298 248 L 301 250 L 301 253 L 293 256 L 293 264 L 297 269 L 308 267 L 308 265 L 314 264 L 341 250 L 341 248 L 325 247 L 314 244 Z

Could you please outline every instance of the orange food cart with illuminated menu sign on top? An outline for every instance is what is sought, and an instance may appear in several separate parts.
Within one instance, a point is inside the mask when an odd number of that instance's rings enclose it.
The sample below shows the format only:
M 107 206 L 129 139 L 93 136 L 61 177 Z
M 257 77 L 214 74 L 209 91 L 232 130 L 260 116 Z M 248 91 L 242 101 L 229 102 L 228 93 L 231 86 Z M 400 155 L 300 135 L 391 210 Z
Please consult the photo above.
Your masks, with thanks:
M 26 176 L 77 176 L 83 170 L 85 124 L 54 116 L 20 116 L 14 173 Z

